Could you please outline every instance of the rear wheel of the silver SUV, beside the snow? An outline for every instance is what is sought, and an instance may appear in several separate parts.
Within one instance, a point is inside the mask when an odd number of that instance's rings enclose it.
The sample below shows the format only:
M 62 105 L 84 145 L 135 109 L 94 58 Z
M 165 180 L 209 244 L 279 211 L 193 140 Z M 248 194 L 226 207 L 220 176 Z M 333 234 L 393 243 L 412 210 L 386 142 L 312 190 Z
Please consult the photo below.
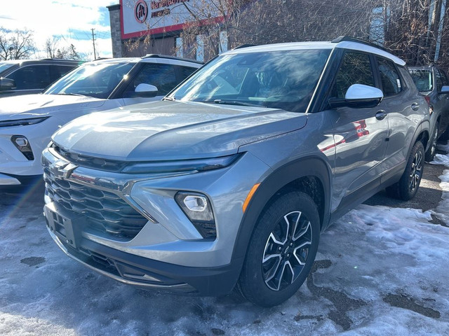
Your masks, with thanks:
M 406 169 L 401 179 L 387 188 L 387 193 L 400 200 L 411 200 L 420 187 L 422 173 L 424 171 L 424 146 L 417 141 L 408 157 Z

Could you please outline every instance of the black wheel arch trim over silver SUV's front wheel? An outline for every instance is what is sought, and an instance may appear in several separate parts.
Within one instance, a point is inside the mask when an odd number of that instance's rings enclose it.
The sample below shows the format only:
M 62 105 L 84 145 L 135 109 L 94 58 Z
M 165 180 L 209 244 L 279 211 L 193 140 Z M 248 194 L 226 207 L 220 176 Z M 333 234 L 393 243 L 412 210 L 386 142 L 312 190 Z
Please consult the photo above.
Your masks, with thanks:
M 255 223 L 267 204 L 288 191 L 307 193 L 317 204 L 321 230 L 330 219 L 330 167 L 318 157 L 300 158 L 276 169 L 262 181 L 248 204 L 234 244 L 233 259 L 243 259 Z

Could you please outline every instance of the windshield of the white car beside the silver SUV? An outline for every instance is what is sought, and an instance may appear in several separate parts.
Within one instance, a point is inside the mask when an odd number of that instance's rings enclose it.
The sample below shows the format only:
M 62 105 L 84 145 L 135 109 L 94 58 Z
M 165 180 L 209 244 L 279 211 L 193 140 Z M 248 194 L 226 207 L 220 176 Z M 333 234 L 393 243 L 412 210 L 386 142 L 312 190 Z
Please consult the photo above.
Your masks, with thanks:
M 135 63 L 84 64 L 67 73 L 43 94 L 81 94 L 106 99 Z

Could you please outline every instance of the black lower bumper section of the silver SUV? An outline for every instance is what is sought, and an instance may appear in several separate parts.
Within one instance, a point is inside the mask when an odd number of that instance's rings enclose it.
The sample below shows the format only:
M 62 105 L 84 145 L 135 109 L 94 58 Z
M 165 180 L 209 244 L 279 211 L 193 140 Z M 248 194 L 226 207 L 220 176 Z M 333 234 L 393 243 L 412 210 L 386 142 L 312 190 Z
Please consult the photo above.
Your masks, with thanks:
M 46 205 L 44 210 L 48 232 L 62 251 L 95 272 L 121 283 L 142 289 L 215 296 L 229 293 L 239 277 L 243 258 L 223 267 L 186 267 L 150 260 L 84 238 L 76 241 L 75 248 L 55 228 L 50 209 L 54 209 L 53 205 Z

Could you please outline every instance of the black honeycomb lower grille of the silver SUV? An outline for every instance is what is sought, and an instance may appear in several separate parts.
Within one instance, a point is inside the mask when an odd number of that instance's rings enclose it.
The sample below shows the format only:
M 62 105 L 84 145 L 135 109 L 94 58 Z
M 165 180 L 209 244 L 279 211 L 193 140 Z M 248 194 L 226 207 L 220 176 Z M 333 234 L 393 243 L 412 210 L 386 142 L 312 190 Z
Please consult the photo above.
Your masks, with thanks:
M 43 172 L 48 197 L 65 209 L 82 214 L 93 230 L 131 239 L 148 221 L 114 193 L 57 179 L 48 168 Z

